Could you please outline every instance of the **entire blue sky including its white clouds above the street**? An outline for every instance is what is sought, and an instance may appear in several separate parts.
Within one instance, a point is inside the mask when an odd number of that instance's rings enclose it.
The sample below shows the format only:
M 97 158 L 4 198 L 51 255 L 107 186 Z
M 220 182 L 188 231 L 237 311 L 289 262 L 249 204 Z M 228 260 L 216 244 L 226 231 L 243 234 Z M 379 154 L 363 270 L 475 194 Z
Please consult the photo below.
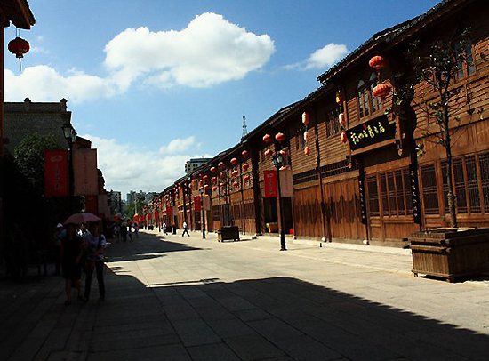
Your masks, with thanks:
M 5 52 L 5 101 L 59 101 L 106 188 L 161 191 L 317 89 L 317 76 L 437 0 L 30 0 L 31 51 Z M 15 28 L 5 29 L 6 44 Z

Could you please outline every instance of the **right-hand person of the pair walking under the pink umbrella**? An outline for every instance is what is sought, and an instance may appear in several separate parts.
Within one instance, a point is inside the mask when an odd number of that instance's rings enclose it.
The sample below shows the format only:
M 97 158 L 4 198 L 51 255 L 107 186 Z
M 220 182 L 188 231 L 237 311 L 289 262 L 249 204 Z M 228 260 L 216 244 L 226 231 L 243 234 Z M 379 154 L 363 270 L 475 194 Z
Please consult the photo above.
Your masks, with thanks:
M 99 301 L 105 301 L 105 283 L 103 278 L 104 269 L 104 250 L 107 247 L 107 241 L 104 235 L 100 234 L 99 223 L 92 223 L 90 232 L 85 236 L 84 242 L 87 248 L 86 252 L 86 280 L 84 287 L 84 298 L 86 301 L 90 298 L 90 289 L 92 287 L 93 270 L 97 275 L 99 283 Z

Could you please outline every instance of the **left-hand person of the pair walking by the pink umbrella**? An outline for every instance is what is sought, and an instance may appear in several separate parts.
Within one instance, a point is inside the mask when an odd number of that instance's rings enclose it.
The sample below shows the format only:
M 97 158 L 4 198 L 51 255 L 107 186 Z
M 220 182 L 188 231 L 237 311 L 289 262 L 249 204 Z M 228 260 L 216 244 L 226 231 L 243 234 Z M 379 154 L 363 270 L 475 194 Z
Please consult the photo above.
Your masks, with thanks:
M 63 277 L 65 278 L 66 301 L 71 304 L 71 287 L 75 285 L 78 292 L 78 300 L 84 301 L 82 295 L 82 257 L 84 255 L 84 240 L 76 233 L 75 225 L 68 227 L 61 234 L 61 264 Z

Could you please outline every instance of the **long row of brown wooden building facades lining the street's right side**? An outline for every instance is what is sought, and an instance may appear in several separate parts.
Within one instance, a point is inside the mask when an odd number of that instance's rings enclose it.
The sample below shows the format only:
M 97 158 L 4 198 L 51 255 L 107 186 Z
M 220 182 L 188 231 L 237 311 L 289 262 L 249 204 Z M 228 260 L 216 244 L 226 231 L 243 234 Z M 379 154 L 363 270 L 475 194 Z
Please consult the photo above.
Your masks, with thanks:
M 482 0 L 445 0 L 375 34 L 318 76 L 315 92 L 280 109 L 188 176 L 188 200 L 200 197 L 200 188 L 209 198 L 207 229 L 232 224 L 247 234 L 263 234 L 283 226 L 299 238 L 402 245 L 415 230 L 448 226 L 445 148 L 438 141 L 438 124 L 426 111 L 437 93 L 427 82 L 413 81 L 405 52 L 419 41 L 418 52 L 424 56 L 427 44 L 456 38 L 465 28 L 470 28 L 468 61 L 450 85 L 458 90 L 450 123 L 456 214 L 459 226 L 488 227 L 488 16 Z M 369 66 L 377 55 L 387 60 L 381 74 Z M 393 90 L 385 97 L 373 96 L 380 81 Z M 401 104 L 398 94 L 406 84 L 413 85 L 413 99 Z M 274 139 L 278 132 L 285 134 L 284 141 Z M 269 142 L 263 140 L 267 134 Z M 420 144 L 422 157 L 417 156 Z M 270 154 L 281 150 L 285 194 L 280 207 L 277 197 L 269 197 L 267 177 L 275 173 L 277 178 Z M 180 183 L 163 192 L 167 204 Z M 188 219 L 195 220 L 189 224 L 197 229 L 201 215 L 196 202 L 186 210 Z

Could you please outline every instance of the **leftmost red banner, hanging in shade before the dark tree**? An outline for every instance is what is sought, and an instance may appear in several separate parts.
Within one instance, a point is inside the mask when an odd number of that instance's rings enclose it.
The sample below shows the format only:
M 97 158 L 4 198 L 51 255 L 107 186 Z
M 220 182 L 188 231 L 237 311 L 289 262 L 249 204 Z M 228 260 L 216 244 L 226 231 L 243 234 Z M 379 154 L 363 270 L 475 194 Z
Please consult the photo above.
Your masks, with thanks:
M 68 151 L 44 150 L 45 197 L 68 197 Z

